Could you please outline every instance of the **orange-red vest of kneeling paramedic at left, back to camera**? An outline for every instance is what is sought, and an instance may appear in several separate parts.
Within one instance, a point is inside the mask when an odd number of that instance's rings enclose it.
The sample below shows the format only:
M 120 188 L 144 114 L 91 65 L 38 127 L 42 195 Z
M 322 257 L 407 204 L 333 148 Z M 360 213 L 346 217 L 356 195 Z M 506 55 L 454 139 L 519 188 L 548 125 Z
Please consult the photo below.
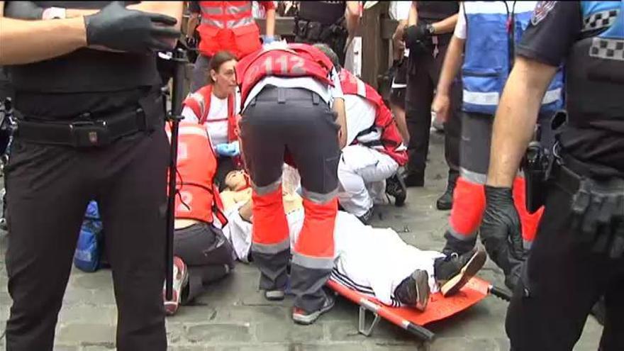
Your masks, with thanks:
M 171 140 L 171 128 L 166 126 Z M 217 216 L 223 225 L 223 203 L 214 184 L 217 159 L 205 126 L 180 122 L 178 132 L 176 219 L 213 223 Z

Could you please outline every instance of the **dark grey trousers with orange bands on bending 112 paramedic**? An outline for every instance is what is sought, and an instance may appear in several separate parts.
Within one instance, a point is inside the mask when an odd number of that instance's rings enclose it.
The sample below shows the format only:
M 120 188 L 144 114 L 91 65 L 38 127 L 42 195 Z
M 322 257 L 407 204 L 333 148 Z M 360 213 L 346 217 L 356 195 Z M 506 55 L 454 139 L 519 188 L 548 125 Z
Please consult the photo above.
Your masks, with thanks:
M 282 204 L 282 168 L 289 154 L 299 169 L 305 219 L 292 252 L 295 307 L 319 310 L 334 260 L 338 212 L 338 124 L 328 104 L 307 89 L 265 87 L 243 113 L 240 139 L 250 173 L 252 257 L 260 289 L 285 289 L 289 227 Z

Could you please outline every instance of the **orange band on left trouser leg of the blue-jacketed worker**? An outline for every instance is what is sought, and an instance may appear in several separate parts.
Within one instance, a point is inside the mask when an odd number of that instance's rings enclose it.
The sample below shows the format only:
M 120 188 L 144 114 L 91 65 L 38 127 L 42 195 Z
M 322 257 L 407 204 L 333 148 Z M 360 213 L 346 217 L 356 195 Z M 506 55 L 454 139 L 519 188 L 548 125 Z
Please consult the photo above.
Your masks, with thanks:
M 449 219 L 451 229 L 456 235 L 474 237 L 485 211 L 484 189 L 482 184 L 469 182 L 463 176 L 457 179 Z

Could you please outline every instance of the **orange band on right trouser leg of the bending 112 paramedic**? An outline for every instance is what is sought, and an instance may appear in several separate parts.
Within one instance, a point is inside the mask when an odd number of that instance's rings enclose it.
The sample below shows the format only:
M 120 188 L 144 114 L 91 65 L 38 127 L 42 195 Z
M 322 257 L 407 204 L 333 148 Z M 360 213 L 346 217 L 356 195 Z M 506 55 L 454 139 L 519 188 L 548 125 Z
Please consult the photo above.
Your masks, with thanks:
M 299 238 L 297 238 L 294 252 L 300 258 L 312 257 L 333 260 L 334 227 L 338 214 L 338 199 L 334 198 L 325 204 L 316 204 L 308 199 L 303 199 L 303 208 L 306 217 L 303 218 L 303 227 L 299 233 Z M 306 262 L 311 264 L 310 260 Z M 305 262 L 302 261 L 300 264 L 306 267 Z

